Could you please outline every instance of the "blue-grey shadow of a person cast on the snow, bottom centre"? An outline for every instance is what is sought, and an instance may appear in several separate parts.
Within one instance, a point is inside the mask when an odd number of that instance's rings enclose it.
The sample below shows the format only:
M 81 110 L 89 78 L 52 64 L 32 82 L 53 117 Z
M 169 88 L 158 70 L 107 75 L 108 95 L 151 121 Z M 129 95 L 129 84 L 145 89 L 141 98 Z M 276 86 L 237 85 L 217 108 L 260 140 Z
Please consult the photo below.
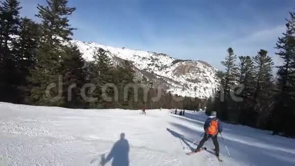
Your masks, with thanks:
M 121 133 L 120 140 L 118 140 L 112 147 L 111 151 L 105 158 L 105 155 L 101 155 L 100 165 L 104 166 L 112 159 L 112 166 L 129 166 L 129 143 L 125 139 L 125 133 Z

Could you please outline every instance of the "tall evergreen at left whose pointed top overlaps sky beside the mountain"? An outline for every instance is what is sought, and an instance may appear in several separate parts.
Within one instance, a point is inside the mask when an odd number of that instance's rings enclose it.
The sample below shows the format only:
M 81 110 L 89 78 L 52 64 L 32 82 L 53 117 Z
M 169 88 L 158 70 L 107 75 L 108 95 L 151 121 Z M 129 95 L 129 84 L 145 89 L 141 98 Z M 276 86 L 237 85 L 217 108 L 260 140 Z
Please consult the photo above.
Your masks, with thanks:
M 42 40 L 36 55 L 38 64 L 32 71 L 31 81 L 34 87 L 31 97 L 35 104 L 64 106 L 64 90 L 57 87 L 63 87 L 59 85 L 62 84 L 59 80 L 64 71 L 63 61 L 68 49 L 64 42 L 69 42 L 74 30 L 70 27 L 67 16 L 71 15 L 75 8 L 69 8 L 66 0 L 47 0 L 47 4 L 48 6 L 38 5 L 37 16 L 42 21 Z M 45 93 L 52 83 L 55 83 L 56 87 Z

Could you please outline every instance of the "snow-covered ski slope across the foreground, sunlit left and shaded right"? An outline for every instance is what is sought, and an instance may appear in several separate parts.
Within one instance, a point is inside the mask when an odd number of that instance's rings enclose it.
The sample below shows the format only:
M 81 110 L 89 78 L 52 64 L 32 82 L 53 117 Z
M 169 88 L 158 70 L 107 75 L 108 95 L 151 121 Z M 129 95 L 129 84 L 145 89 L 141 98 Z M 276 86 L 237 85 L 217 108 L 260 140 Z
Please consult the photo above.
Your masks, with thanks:
M 0 110 L 0 165 L 101 165 L 111 149 L 105 165 L 295 165 L 295 140 L 231 124 L 223 124 L 224 141 L 219 137 L 223 162 L 208 151 L 186 155 L 203 132 L 202 112 L 181 117 L 167 109 L 142 115 L 9 103 Z

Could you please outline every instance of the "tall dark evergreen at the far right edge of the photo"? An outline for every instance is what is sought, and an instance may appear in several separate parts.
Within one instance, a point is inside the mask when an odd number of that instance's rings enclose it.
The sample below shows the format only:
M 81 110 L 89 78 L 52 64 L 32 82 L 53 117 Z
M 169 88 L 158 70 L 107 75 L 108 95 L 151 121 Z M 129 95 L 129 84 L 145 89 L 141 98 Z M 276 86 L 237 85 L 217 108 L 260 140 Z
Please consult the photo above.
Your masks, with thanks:
M 295 13 L 290 12 L 286 20 L 286 33 L 278 39 L 276 53 L 283 60 L 277 73 L 278 90 L 273 114 L 275 132 L 283 131 L 287 135 L 295 135 L 292 120 L 295 118 Z

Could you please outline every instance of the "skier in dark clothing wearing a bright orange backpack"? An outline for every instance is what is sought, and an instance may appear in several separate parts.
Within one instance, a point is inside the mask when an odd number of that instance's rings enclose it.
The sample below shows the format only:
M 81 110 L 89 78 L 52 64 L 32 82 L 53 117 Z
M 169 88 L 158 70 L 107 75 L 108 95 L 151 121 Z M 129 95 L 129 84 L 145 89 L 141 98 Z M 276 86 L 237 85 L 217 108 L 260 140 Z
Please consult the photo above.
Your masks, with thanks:
M 216 118 L 216 112 L 212 112 L 211 116 L 205 121 L 204 124 L 204 137 L 198 144 L 195 152 L 199 152 L 206 141 L 212 139 L 213 144 L 215 146 L 215 154 L 219 158 L 219 143 L 217 140 L 218 132 L 222 132 L 222 125 L 219 123 L 219 120 Z

